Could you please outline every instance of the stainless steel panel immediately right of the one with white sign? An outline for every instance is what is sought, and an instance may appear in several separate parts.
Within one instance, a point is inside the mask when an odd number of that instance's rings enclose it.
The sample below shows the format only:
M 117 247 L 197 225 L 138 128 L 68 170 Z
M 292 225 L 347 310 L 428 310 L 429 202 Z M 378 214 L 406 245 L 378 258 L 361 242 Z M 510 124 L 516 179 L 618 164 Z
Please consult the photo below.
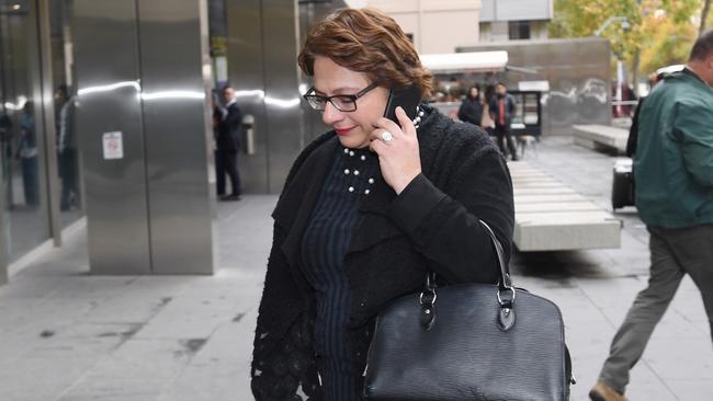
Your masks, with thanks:
M 140 0 L 138 20 L 152 272 L 211 274 L 207 4 Z

